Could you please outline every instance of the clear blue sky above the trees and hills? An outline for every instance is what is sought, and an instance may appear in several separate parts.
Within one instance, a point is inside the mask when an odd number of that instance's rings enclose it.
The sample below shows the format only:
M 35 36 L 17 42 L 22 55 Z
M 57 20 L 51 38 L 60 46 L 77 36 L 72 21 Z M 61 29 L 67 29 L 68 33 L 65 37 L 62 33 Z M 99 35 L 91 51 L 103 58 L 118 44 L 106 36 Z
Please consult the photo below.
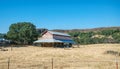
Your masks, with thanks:
M 50 30 L 120 26 L 120 0 L 0 0 L 0 33 L 16 22 Z

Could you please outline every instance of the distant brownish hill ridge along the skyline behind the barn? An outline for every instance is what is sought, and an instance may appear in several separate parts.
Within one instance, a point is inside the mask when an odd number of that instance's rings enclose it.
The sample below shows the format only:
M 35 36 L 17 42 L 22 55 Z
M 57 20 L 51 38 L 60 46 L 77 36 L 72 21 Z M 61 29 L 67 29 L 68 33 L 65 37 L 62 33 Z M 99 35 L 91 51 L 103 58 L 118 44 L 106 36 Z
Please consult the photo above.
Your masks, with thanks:
M 71 29 L 71 30 L 62 30 L 62 29 L 54 29 L 51 31 L 56 31 L 56 32 L 63 32 L 63 33 L 70 33 L 70 32 L 97 32 L 97 31 L 102 31 L 102 30 L 120 30 L 119 27 L 100 27 L 100 28 L 92 28 L 92 29 Z

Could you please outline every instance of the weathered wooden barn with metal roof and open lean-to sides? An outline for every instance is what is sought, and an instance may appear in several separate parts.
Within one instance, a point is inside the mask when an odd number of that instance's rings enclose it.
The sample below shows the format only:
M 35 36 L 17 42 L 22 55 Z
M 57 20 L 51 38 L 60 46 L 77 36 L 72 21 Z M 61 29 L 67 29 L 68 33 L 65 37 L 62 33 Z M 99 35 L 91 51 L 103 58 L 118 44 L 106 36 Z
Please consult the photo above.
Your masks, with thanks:
M 71 47 L 73 43 L 70 35 L 53 31 L 45 31 L 41 38 L 34 41 L 35 45 L 42 47 Z

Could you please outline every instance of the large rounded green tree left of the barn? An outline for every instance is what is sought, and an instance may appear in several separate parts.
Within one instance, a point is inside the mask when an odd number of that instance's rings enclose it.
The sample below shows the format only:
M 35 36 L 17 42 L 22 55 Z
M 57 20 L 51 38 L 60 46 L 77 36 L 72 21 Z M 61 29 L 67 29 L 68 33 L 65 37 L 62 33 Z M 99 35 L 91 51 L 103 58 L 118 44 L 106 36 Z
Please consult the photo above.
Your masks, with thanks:
M 18 22 L 11 24 L 7 32 L 7 38 L 18 44 L 31 44 L 38 38 L 38 33 L 32 23 Z

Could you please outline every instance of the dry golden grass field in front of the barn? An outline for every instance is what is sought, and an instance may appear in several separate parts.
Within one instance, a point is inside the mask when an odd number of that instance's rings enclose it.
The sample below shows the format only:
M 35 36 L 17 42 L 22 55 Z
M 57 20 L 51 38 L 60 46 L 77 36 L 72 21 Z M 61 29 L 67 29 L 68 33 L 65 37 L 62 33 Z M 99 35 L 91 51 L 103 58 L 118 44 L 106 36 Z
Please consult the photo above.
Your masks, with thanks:
M 0 51 L 0 69 L 116 69 L 120 44 L 80 45 L 79 48 L 13 47 Z M 120 65 L 120 63 L 119 63 Z

